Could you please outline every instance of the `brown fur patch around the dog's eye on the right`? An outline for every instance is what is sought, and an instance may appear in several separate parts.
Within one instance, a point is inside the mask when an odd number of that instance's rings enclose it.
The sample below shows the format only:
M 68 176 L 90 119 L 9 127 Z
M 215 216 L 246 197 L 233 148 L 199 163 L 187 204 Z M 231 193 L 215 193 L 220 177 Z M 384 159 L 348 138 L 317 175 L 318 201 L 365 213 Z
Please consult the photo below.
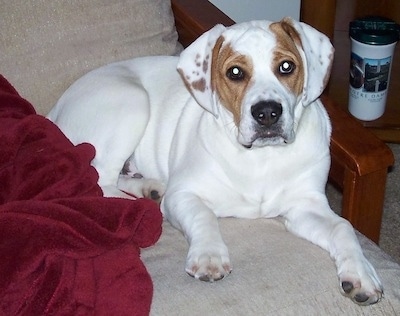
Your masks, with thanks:
M 281 22 L 270 25 L 276 34 L 277 47 L 274 50 L 272 69 L 279 80 L 296 95 L 300 95 L 304 86 L 304 64 L 297 47 L 302 48 L 301 38 L 290 21 L 283 19 Z M 279 66 L 283 61 L 291 61 L 296 69 L 289 75 L 282 75 Z

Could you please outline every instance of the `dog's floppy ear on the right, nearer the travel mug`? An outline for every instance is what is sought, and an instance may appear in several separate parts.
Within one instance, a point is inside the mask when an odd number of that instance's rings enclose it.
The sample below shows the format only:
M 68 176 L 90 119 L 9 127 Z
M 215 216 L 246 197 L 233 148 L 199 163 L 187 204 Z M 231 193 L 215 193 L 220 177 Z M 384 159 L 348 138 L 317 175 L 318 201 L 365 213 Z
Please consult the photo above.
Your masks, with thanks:
M 297 33 L 289 35 L 292 36 L 304 63 L 302 103 L 307 106 L 321 95 L 329 81 L 334 48 L 326 35 L 305 23 L 291 18 L 284 18 L 280 23 L 293 27 Z

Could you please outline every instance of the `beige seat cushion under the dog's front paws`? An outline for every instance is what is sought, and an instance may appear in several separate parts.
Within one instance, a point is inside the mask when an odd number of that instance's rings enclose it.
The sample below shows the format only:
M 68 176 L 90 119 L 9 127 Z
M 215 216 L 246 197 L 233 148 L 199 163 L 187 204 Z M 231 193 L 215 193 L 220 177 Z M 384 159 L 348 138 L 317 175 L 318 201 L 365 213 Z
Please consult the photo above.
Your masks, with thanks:
M 159 242 L 143 250 L 154 284 L 151 315 L 398 315 L 400 266 L 361 234 L 385 289 L 384 298 L 367 307 L 340 294 L 328 252 L 287 232 L 281 220 L 219 223 L 233 263 L 221 281 L 201 282 L 185 273 L 188 245 L 168 222 Z

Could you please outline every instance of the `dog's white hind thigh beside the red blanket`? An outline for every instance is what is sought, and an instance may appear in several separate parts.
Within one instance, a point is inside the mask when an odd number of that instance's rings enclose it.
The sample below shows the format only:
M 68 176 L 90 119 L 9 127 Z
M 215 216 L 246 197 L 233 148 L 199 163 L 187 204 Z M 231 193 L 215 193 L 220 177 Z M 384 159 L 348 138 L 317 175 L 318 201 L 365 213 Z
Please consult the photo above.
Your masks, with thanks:
M 64 93 L 49 118 L 72 143 L 90 143 L 95 147 L 91 164 L 97 170 L 97 183 L 104 196 L 133 198 L 119 190 L 117 184 L 124 163 L 144 135 L 150 103 L 129 67 L 117 63 L 82 77 Z M 136 193 L 130 187 L 133 185 L 124 185 L 123 189 Z

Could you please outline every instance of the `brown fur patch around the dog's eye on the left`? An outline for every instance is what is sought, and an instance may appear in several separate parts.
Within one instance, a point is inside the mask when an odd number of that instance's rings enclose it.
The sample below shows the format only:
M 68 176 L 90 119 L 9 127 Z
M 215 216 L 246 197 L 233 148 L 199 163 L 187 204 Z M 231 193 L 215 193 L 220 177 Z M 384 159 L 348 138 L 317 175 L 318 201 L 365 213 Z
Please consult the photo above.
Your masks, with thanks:
M 216 91 L 219 100 L 232 114 L 234 122 L 239 125 L 243 98 L 251 82 L 253 64 L 247 56 L 235 52 L 229 44 L 223 46 L 221 36 L 214 45 L 211 60 L 211 87 Z M 240 67 L 245 77 L 240 81 L 232 81 L 226 73 L 233 66 Z

